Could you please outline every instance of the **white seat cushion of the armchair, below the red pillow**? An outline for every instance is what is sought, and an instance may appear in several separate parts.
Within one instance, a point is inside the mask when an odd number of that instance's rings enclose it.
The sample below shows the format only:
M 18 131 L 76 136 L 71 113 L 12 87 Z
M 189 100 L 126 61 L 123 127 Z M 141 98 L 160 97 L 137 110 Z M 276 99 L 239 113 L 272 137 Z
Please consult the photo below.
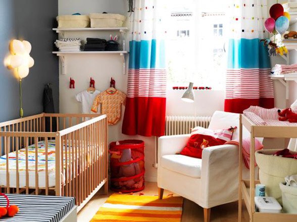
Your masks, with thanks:
M 202 160 L 183 155 L 165 155 L 161 158 L 162 167 L 188 177 L 200 178 Z

